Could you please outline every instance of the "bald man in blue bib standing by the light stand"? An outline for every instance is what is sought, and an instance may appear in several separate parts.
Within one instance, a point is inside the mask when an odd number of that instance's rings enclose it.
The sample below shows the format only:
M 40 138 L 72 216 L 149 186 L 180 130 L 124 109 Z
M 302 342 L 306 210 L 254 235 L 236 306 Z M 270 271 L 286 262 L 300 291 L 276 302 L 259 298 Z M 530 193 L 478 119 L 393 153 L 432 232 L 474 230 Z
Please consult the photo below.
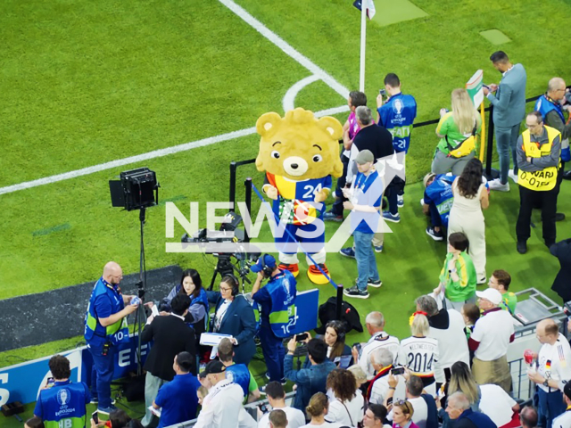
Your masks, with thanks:
M 128 342 L 126 318 L 138 307 L 138 304 L 130 304 L 135 296 L 121 294 L 121 279 L 121 267 L 114 261 L 107 263 L 91 293 L 85 321 L 84 336 L 93 357 L 92 397 L 97 402 L 97 410 L 105 415 L 115 408 L 111 401 L 115 351 L 119 343 Z

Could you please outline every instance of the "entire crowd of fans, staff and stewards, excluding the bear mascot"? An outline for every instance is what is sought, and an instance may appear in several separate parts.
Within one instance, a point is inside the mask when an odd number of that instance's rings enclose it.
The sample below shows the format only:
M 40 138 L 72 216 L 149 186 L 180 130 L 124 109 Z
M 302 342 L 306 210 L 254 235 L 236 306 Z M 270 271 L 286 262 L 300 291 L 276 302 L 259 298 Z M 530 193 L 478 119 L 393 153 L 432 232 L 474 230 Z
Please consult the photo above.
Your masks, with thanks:
M 484 224 L 490 191 L 508 191 L 511 179 L 520 195 L 517 251 L 527 251 L 531 210 L 539 208 L 544 243 L 560 260 L 568 260 L 569 240 L 556 243 L 556 220 L 564 218 L 557 213 L 557 197 L 565 162 L 571 160 L 569 108 L 562 103 L 566 86 L 561 78 L 550 79 L 534 111 L 525 114 L 524 67 L 501 51 L 491 61 L 502 74 L 499 85 L 484 86 L 494 107 L 500 177 L 491 182 L 483 177 L 476 157 L 481 119 L 468 92 L 454 89 L 451 111 L 441 111 L 435 130 L 439 142 L 421 201 L 429 218 L 426 234 L 435 241 L 446 239 L 447 255 L 438 286 L 415 300 L 409 337 L 391 334 L 390 320 L 380 311 L 365 317 L 367 342 L 349 346 L 343 319 L 329 320 L 323 335 L 290 337 L 285 327 L 295 316 L 296 280 L 269 254 L 251 267 L 256 281 L 249 296 L 240 294 L 232 275 L 221 279 L 218 291 L 206 291 L 200 274 L 188 269 L 166 298 L 145 303 L 153 315 L 141 339 L 153 346 L 145 360 L 146 413 L 139 423 L 114 406 L 111 381 L 117 345 L 128 341 L 126 318 L 140 302 L 120 292 L 122 270 L 109 262 L 87 308 L 85 338 L 94 359 L 90 387 L 71 382 L 69 361 L 54 356 L 49 362 L 54 382 L 40 391 L 35 417 L 26 425 L 85 426 L 86 405 L 94 402 L 97 414 L 109 416 L 105 425 L 110 428 L 161 428 L 194 418 L 200 428 L 571 427 L 571 348 L 552 319 L 537 325 L 538 342 L 529 361 L 534 406 L 520 408 L 512 396 L 507 354 L 515 339 L 517 297 L 509 291 L 508 272 L 486 273 Z M 344 210 L 361 210 L 376 213 L 379 225 L 400 222 L 405 180 L 385 183 L 380 171 L 399 153 L 399 166 L 405 168 L 416 101 L 401 93 L 401 80 L 389 73 L 385 95 L 377 96 L 377 121 L 365 94 L 351 92 L 348 105 L 343 177 L 324 218 L 341 221 Z M 523 119 L 527 130 L 520 135 Z M 376 187 L 380 191 L 371 191 Z M 341 253 L 356 259 L 358 278 L 344 294 L 368 299 L 368 287 L 382 285 L 376 252 L 383 251 L 384 235 L 363 221 L 353 238 L 353 246 Z M 561 292 L 568 292 L 567 265 L 561 261 Z M 481 290 L 478 284 L 484 285 Z M 201 341 L 205 333 L 224 338 L 207 347 Z M 249 368 L 256 337 L 267 367 L 269 382 L 263 386 Z M 293 385 L 293 398 L 285 395 L 286 383 Z M 261 403 L 262 396 L 267 405 L 258 406 L 256 415 L 246 411 L 244 405 Z

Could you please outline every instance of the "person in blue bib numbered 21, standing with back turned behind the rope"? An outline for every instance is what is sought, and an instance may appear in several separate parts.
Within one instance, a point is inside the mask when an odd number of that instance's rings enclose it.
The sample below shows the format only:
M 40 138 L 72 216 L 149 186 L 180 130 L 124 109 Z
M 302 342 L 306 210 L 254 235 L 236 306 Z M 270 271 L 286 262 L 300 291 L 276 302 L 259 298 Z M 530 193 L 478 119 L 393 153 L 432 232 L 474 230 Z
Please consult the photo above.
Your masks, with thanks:
M 412 95 L 403 95 L 401 80 L 394 73 L 385 76 L 386 101 L 377 95 L 378 124 L 393 135 L 394 152 L 409 152 L 412 124 L 417 117 L 417 102 Z M 404 162 L 404 160 L 403 160 Z M 404 205 L 404 180 L 394 177 L 386 189 L 389 210 L 383 216 L 387 221 L 399 222 L 399 207 Z

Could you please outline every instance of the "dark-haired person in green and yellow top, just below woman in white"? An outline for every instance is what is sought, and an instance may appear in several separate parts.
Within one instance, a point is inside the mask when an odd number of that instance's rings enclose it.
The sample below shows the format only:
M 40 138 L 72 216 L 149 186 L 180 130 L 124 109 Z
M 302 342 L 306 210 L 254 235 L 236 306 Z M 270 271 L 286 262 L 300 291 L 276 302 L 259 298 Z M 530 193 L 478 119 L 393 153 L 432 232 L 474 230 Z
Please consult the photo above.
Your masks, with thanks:
M 434 289 L 444 292 L 447 309 L 461 311 L 464 303 L 476 303 L 476 268 L 468 255 L 468 238 L 461 232 L 448 237 L 448 254 L 440 273 L 440 284 Z

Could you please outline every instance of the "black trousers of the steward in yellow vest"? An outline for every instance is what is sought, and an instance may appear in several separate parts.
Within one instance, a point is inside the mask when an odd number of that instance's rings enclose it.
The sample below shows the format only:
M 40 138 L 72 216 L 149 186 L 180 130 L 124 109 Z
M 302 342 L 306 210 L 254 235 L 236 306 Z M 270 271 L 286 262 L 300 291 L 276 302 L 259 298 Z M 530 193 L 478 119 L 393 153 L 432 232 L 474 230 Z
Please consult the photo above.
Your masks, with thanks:
M 519 186 L 519 216 L 517 216 L 516 235 L 517 242 L 529 239 L 532 210 L 534 207 L 542 209 L 543 241 L 546 245 L 555 243 L 555 214 L 557 212 L 557 195 L 559 183 L 548 191 L 531 190 L 523 185 Z

